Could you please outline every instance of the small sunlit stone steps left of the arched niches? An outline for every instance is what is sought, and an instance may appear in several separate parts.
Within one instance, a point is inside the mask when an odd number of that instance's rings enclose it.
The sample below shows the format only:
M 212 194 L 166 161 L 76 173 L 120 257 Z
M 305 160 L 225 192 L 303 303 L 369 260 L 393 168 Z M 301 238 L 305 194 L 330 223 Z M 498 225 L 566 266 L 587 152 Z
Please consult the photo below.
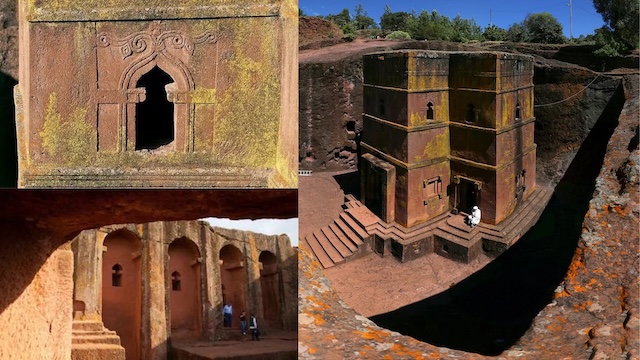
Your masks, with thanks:
M 74 320 L 71 330 L 72 360 L 124 360 L 125 350 L 115 331 L 101 321 Z

